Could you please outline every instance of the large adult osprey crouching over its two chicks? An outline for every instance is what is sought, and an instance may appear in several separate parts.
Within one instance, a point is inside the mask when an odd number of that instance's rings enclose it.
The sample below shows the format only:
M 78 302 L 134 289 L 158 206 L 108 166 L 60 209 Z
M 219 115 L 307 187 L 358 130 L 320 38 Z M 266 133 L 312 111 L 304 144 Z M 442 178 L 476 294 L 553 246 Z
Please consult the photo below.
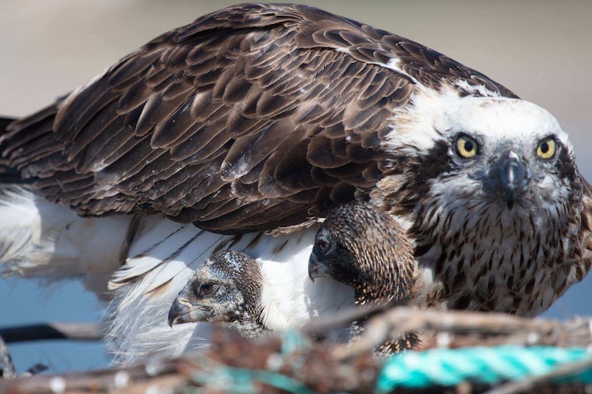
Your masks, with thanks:
M 122 362 L 181 351 L 168 309 L 208 256 L 306 271 L 307 225 L 348 201 L 407 232 L 422 306 L 532 316 L 590 269 L 589 184 L 551 114 L 309 6 L 203 16 L 3 129 L 3 182 L 30 186 L 2 194 L 0 262 L 109 288 Z

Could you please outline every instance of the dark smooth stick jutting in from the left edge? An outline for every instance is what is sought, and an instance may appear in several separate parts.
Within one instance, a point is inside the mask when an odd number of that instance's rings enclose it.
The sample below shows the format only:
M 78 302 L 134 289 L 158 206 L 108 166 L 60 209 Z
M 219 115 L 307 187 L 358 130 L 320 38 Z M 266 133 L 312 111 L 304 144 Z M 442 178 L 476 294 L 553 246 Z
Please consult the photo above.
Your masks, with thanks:
M 76 341 L 100 341 L 100 325 L 96 323 L 45 323 L 16 325 L 0 328 L 0 336 L 6 343 L 43 341 L 46 339 L 71 339 Z

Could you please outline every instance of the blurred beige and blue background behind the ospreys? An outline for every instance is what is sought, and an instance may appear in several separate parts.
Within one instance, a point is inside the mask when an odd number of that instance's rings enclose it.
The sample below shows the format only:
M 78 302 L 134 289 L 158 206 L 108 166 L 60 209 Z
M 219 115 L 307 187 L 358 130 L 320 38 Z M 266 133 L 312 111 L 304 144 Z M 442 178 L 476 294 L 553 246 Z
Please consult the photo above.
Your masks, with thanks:
M 168 29 L 233 1 L 0 0 L 0 114 L 23 116 L 83 84 Z M 554 114 L 592 180 L 592 1 L 302 1 L 436 49 Z M 0 218 L 1 221 L 1 218 Z M 592 275 L 547 317 L 592 315 Z M 0 326 L 98 321 L 102 306 L 77 282 L 41 288 L 0 279 Z M 100 344 L 10 346 L 19 371 L 108 364 Z

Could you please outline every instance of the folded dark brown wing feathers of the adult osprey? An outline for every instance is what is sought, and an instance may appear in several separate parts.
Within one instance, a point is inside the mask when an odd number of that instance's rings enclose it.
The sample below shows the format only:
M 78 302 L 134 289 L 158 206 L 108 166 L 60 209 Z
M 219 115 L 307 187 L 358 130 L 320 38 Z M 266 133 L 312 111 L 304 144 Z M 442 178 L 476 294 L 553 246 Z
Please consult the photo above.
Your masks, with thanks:
M 401 40 L 306 6 L 236 5 L 14 124 L 0 151 L 80 214 L 157 210 L 218 232 L 293 225 L 380 178 L 380 138 L 413 78 L 372 63 L 400 56 Z M 415 77 L 444 64 L 411 49 Z

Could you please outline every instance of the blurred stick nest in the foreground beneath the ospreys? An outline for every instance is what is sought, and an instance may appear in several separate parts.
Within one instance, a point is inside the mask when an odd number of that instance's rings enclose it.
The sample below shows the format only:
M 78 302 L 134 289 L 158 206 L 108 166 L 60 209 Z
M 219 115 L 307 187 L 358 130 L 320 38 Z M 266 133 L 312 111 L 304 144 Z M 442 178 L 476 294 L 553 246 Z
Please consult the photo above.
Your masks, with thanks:
M 365 330 L 348 345 L 325 345 L 314 338 L 346 321 L 369 317 Z M 587 349 L 592 344 L 592 321 L 525 319 L 479 312 L 437 312 L 395 307 L 385 310 L 356 308 L 333 319 L 315 321 L 297 333 L 247 340 L 217 328 L 214 343 L 196 354 L 167 361 L 148 360 L 132 367 L 16 377 L 10 353 L 0 343 L 4 377 L 0 393 L 589 393 L 592 356 L 565 362 L 543 374 L 497 382 L 466 379 L 453 384 L 394 385 L 380 389 L 388 358 L 374 349 L 385 338 L 403 332 L 424 333 L 419 352 L 512 345 L 516 349 L 556 347 Z M 100 339 L 96 326 L 48 324 L 0 329 L 7 343 L 40 338 Z M 405 358 L 408 354 L 396 355 Z M 509 363 L 509 362 L 508 362 Z M 508 365 L 512 368 L 512 365 Z M 412 375 L 414 371 L 410 371 Z M 488 371 L 484 370 L 484 374 Z

